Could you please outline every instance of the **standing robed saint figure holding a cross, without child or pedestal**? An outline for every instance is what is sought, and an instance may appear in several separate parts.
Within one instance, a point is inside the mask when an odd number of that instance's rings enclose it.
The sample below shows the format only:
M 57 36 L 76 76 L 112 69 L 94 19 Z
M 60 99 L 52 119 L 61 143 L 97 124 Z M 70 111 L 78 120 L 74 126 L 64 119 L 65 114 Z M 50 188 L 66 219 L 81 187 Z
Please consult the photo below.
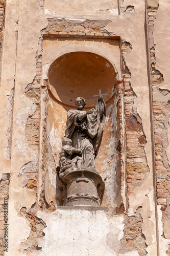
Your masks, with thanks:
M 106 104 L 102 94 L 98 97 L 95 109 L 87 112 L 83 111 L 86 105 L 84 98 L 78 97 L 75 103 L 77 110 L 68 111 L 65 127 L 65 137 L 72 141 L 71 146 L 77 148 L 79 152 L 72 154 L 71 159 L 73 160 L 79 156 L 79 158 L 81 157 L 81 167 L 95 171 L 94 159 L 101 143 L 106 117 Z M 70 167 L 70 165 L 68 166 Z M 76 167 L 79 168 L 80 164 Z

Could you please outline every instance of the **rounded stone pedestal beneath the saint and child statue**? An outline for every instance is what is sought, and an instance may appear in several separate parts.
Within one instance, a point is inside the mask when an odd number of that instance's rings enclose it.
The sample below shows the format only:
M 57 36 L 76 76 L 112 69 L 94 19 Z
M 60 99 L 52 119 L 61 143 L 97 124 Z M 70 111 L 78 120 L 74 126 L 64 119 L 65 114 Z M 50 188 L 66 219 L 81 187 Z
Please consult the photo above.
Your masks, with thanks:
M 105 183 L 101 176 L 91 169 L 66 170 L 60 176 L 66 206 L 101 206 Z

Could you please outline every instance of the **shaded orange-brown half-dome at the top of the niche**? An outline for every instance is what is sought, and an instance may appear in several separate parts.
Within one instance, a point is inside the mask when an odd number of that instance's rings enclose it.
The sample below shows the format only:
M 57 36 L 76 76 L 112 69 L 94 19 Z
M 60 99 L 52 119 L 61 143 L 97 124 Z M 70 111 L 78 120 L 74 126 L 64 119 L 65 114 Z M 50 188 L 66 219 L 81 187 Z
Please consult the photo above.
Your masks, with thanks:
M 106 58 L 91 52 L 71 52 L 57 58 L 48 70 L 50 90 L 57 101 L 75 106 L 77 97 L 86 99 L 86 108 L 96 104 L 101 89 L 107 102 L 113 92 L 116 75 Z

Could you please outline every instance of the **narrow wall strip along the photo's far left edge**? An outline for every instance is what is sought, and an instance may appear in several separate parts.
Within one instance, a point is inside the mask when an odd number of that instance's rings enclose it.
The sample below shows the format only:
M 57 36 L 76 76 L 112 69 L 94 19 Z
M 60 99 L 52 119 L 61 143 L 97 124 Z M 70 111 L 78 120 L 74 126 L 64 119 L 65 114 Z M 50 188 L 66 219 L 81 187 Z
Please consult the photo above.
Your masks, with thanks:
M 4 82 L 3 86 L 0 87 L 0 101 L 1 101 L 1 113 L 0 113 L 0 123 L 1 123 L 1 139 L 0 139 L 0 255 L 4 255 L 5 249 L 5 229 L 4 229 L 4 213 L 8 209 L 8 195 L 9 195 L 9 180 L 10 180 L 10 159 L 11 159 L 11 132 L 12 132 L 12 112 L 13 112 L 13 96 L 14 96 L 14 67 L 15 67 L 15 52 L 9 51 L 9 58 L 11 58 L 11 63 L 4 63 L 4 68 L 2 68 L 2 59 L 3 59 L 3 41 L 4 41 L 4 25 L 5 25 L 5 12 L 6 12 L 6 1 L 0 1 L 0 77 L 3 76 L 5 69 L 11 68 L 11 72 L 8 76 L 8 82 Z M 14 5 L 15 6 L 15 5 Z M 15 23 L 17 22 L 17 14 L 12 20 L 11 13 L 11 23 L 13 26 L 13 44 L 14 49 L 16 46 L 16 37 L 15 37 Z M 7 45 L 10 43 L 10 38 L 6 41 Z M 8 46 L 4 46 L 4 49 L 7 49 Z M 12 56 L 10 56 L 10 54 Z M 5 204 L 5 206 L 4 206 Z M 6 218 L 7 221 L 8 218 Z

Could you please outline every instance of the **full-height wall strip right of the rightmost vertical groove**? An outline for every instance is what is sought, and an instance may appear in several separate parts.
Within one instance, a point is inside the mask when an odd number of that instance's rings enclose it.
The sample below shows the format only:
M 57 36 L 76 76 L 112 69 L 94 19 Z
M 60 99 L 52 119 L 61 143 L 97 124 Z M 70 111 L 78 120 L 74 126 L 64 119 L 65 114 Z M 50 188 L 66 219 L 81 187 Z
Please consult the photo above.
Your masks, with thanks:
M 153 130 L 155 153 L 156 196 L 159 228 L 159 253 L 170 255 L 170 78 L 169 1 L 148 1 L 148 39 L 151 91 L 153 97 Z M 165 40 L 166 38 L 166 40 Z

